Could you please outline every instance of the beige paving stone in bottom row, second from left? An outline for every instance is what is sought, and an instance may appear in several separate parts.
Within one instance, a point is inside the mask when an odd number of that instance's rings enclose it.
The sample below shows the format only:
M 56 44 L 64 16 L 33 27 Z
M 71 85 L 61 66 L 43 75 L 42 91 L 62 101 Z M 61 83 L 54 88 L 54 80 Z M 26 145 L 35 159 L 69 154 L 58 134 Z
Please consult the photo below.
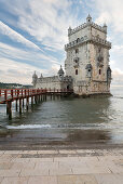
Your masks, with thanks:
M 56 176 L 30 176 L 29 184 L 57 184 Z

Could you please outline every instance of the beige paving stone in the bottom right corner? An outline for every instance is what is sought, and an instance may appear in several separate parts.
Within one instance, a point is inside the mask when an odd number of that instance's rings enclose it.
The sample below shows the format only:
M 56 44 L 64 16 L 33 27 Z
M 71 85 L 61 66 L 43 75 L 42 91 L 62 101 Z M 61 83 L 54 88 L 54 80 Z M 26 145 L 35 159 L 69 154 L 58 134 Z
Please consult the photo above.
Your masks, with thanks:
M 119 174 L 96 174 L 98 184 L 123 184 L 123 175 Z

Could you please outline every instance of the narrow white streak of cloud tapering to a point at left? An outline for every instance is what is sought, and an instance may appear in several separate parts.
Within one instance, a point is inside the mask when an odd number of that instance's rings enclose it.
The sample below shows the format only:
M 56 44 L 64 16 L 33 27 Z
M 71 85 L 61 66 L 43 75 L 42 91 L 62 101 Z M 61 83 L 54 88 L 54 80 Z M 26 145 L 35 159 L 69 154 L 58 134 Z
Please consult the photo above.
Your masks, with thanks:
M 22 36 L 20 34 L 16 32 L 12 28 L 10 28 L 8 25 L 3 24 L 1 21 L 0 21 L 0 32 L 2 35 L 8 36 L 9 38 L 11 38 L 12 40 L 14 40 L 16 42 L 23 43 L 23 44 L 25 44 L 25 45 L 27 45 L 29 48 L 41 50 L 33 42 L 27 40 L 24 36 Z

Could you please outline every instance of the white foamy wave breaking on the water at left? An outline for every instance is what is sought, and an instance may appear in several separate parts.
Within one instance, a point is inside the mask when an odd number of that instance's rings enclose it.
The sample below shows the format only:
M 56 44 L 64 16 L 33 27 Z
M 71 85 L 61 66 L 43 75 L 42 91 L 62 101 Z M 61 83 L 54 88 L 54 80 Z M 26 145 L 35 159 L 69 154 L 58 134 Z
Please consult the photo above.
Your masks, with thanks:
M 6 126 L 6 129 L 42 129 L 42 128 L 51 128 L 51 124 L 20 124 L 20 126 Z

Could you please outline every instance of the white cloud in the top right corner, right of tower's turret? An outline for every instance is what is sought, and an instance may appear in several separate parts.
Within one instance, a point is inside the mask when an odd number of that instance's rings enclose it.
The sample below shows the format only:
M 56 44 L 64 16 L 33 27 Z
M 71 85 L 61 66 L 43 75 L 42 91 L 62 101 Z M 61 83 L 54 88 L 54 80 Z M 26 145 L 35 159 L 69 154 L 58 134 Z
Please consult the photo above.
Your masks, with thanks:
M 110 24 L 112 31 L 123 32 L 123 1 L 122 0 L 93 0 L 99 13 L 97 23 Z

